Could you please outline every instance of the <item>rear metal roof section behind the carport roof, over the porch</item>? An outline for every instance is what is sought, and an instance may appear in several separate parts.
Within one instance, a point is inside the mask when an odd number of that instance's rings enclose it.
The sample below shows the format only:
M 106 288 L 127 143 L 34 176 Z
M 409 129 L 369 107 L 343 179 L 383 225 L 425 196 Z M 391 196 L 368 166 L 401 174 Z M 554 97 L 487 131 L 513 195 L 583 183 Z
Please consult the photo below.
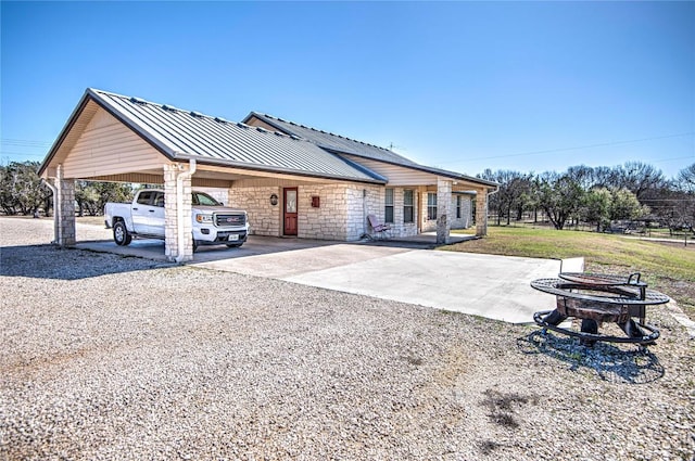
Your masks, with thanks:
M 325 150 L 338 154 L 350 154 L 363 158 L 369 158 L 372 161 L 386 162 L 392 165 L 400 165 L 407 168 L 417 169 L 419 171 L 430 172 L 432 175 L 444 176 L 446 178 L 478 182 L 488 187 L 496 188 L 498 185 L 496 182 L 488 181 L 480 178 L 473 178 L 470 176 L 462 175 L 460 172 L 420 165 L 388 149 L 379 148 L 377 145 L 368 144 L 362 141 L 356 141 L 354 139 L 345 138 L 332 132 L 318 130 L 305 125 L 295 124 L 294 121 L 283 120 L 282 118 L 275 117 L 273 115 L 252 112 L 243 119 L 243 121 L 249 121 L 252 117 L 256 117 L 282 132 L 313 142 L 316 145 L 324 148 Z

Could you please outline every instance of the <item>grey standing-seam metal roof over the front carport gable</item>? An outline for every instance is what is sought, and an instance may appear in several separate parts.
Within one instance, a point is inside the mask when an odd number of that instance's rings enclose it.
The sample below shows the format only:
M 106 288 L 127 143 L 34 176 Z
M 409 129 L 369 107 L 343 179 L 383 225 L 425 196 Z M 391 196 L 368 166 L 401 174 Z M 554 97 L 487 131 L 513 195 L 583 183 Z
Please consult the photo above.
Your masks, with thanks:
M 172 159 L 274 172 L 386 183 L 387 179 L 315 143 L 167 104 L 88 88 L 91 99 Z M 73 117 L 79 114 L 73 114 Z M 70 130 L 71 123 L 65 130 Z M 61 136 L 64 136 L 62 133 Z M 59 138 L 61 139 L 61 138 Z M 47 156 L 60 148 L 53 145 Z M 43 166 L 41 167 L 43 169 Z

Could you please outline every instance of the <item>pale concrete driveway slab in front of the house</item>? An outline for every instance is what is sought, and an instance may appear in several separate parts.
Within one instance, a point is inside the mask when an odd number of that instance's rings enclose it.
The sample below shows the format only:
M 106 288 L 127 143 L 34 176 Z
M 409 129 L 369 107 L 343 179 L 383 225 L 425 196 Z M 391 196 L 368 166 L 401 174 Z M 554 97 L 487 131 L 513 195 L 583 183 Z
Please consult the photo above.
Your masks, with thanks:
M 418 247 L 419 246 L 419 247 Z M 164 259 L 160 241 L 83 242 L 78 247 Z M 241 248 L 201 247 L 189 266 L 452 310 L 510 323 L 531 323 L 555 298 L 531 289 L 556 277 L 554 259 L 419 249 L 408 242 L 343 243 L 252 235 Z

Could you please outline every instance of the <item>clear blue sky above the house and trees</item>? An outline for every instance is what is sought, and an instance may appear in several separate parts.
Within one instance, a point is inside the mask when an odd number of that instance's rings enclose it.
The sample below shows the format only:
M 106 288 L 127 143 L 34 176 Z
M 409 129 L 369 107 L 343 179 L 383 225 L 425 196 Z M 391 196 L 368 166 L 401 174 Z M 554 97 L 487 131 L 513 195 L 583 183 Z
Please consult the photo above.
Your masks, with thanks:
M 87 87 L 467 175 L 695 162 L 695 2 L 1 2 L 0 162 Z

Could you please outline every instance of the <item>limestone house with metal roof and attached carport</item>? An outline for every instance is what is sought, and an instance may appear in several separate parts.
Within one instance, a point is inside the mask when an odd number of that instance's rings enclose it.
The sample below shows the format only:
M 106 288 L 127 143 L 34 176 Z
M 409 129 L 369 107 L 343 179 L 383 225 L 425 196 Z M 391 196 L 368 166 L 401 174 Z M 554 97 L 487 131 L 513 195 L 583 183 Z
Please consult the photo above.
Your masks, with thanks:
M 235 123 L 91 88 L 39 175 L 54 191 L 62 246 L 75 243 L 76 179 L 162 184 L 172 260 L 192 259 L 191 187 L 226 190 L 228 205 L 248 210 L 252 234 L 355 241 L 376 215 L 395 236 L 435 230 L 438 243 L 470 226 L 472 197 L 484 235 L 497 187 L 265 114 Z

